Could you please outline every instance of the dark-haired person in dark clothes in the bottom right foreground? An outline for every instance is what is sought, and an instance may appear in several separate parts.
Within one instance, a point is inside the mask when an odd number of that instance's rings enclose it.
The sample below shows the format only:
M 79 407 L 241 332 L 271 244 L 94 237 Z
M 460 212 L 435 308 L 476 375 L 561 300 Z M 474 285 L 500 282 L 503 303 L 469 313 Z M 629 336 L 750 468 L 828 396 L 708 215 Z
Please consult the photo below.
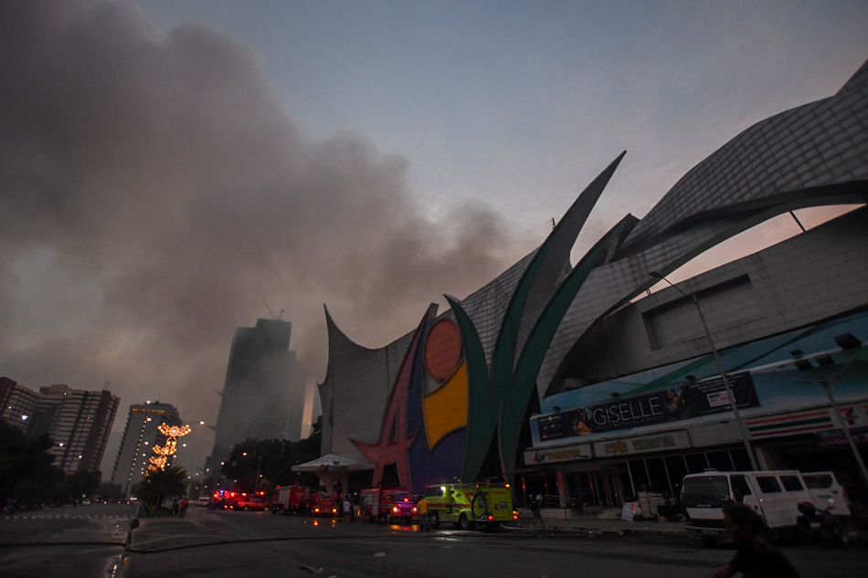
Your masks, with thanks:
M 766 522 L 757 512 L 735 501 L 725 502 L 723 510 L 726 533 L 736 543 L 737 552 L 729 563 L 711 573 L 710 578 L 730 578 L 739 572 L 745 578 L 799 578 L 784 554 L 767 540 Z

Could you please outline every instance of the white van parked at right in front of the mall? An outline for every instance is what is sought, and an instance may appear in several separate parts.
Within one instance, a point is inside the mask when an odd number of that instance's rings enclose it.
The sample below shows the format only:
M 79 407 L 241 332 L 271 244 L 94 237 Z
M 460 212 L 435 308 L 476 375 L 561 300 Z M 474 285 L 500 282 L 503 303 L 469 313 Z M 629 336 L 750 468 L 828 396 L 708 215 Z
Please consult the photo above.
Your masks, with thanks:
M 706 545 L 728 539 L 721 507 L 730 499 L 750 506 L 766 520 L 769 530 L 775 534 L 796 530 L 800 515 L 799 502 L 810 501 L 821 510 L 826 510 L 830 507 L 828 499 L 835 499 L 833 505 L 839 511 L 846 508 L 843 490 L 831 472 L 805 475 L 810 476 L 810 483 L 797 470 L 706 470 L 702 474 L 685 476 L 681 488 L 681 506 L 687 535 L 702 539 Z M 824 487 L 815 488 L 812 494 L 810 486 Z M 839 496 L 840 502 L 837 500 Z M 849 514 L 850 510 L 846 511 Z

